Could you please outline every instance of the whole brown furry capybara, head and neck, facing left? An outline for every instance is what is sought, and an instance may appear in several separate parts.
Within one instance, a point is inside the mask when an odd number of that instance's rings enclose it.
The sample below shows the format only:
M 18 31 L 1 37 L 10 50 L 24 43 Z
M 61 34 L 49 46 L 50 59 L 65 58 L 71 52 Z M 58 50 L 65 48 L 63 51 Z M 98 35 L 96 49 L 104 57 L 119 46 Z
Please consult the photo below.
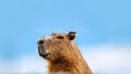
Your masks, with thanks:
M 39 55 L 48 61 L 48 74 L 92 74 L 74 44 L 75 33 L 53 33 L 38 39 Z

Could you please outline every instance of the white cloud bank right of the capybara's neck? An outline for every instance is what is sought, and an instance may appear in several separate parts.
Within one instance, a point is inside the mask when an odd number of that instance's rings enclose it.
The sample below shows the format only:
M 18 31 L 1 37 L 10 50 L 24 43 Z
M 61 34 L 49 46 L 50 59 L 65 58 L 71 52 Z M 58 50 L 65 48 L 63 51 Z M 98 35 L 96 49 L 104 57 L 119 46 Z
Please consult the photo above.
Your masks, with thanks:
M 82 47 L 82 54 L 94 73 L 131 73 L 131 47 Z

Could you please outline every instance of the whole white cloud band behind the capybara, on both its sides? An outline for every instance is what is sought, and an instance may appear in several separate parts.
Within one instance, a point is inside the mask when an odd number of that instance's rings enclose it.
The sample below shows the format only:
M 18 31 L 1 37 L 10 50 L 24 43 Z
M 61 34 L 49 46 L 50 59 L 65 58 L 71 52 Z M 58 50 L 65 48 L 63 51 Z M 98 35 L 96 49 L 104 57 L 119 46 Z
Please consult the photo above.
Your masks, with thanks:
M 131 47 L 80 47 L 94 73 L 131 73 Z M 10 67 L 9 67 L 10 66 Z M 47 61 L 38 55 L 26 55 L 15 62 L 0 63 L 0 72 L 47 72 Z

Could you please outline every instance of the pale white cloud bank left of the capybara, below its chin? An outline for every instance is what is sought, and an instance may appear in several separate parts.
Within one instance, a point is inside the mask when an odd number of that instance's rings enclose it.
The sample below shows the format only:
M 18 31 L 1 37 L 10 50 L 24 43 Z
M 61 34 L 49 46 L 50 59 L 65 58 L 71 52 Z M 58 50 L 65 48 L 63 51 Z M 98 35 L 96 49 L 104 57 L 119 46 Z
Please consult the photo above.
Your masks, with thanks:
M 47 63 L 38 55 L 26 55 L 15 61 L 0 62 L 0 73 L 46 73 Z

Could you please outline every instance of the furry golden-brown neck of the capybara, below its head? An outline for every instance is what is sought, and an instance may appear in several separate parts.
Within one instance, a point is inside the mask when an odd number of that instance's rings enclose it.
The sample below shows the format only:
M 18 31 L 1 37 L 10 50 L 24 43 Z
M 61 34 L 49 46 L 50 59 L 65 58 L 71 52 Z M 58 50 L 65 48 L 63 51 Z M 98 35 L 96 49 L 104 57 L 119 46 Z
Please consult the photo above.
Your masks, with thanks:
M 68 74 L 92 74 L 82 54 L 72 41 L 66 49 L 58 53 L 59 58 L 49 61 L 49 72 L 69 72 Z M 69 50 L 69 51 L 68 51 Z M 66 73 L 67 74 L 67 73 Z

